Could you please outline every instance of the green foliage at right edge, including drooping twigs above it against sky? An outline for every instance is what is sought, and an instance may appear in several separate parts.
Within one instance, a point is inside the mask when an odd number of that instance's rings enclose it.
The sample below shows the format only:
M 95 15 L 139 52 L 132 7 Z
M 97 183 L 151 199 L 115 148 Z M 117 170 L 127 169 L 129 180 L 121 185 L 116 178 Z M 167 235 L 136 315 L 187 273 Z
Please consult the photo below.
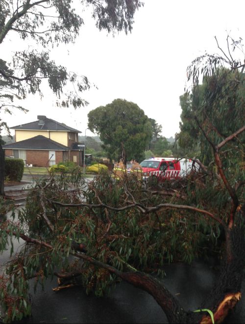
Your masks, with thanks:
M 206 164 L 213 159 L 210 142 L 217 145 L 244 125 L 245 74 L 244 69 L 235 68 L 242 64 L 239 58 L 235 58 L 242 46 L 241 39 L 237 42 L 228 36 L 227 46 L 227 56 L 225 51 L 222 52 L 223 57 L 204 54 L 192 62 L 188 67 L 188 76 L 193 86 L 190 92 L 180 97 L 182 123 L 179 145 L 199 151 L 200 160 Z M 233 54 L 229 52 L 230 48 Z M 202 84 L 199 84 L 199 76 L 202 77 Z M 239 159 L 239 156 L 242 158 L 244 136 L 243 133 L 229 143 L 227 161 Z M 227 151 L 227 147 L 223 150 Z

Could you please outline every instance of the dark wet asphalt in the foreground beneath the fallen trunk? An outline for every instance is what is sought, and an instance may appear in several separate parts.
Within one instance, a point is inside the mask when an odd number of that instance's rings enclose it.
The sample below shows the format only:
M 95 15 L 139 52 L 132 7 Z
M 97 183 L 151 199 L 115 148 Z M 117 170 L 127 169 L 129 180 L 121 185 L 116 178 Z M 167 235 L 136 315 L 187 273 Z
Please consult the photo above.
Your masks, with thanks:
M 202 262 L 165 267 L 164 283 L 185 309 L 196 310 L 215 280 Z M 32 317 L 22 323 L 168 323 L 156 301 L 146 292 L 122 282 L 109 297 L 87 296 L 79 287 L 53 292 L 54 279 L 32 298 Z M 245 288 L 245 287 L 244 287 Z M 245 289 L 243 289 L 245 292 Z M 245 323 L 244 302 L 225 323 Z

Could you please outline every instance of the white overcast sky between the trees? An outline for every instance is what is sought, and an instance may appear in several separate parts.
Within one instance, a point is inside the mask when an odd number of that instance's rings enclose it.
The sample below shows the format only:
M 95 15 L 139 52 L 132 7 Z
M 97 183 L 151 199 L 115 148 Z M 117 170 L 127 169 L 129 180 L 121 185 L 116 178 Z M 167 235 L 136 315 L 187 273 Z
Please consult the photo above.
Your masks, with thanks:
M 115 37 L 99 32 L 94 21 L 86 18 L 76 43 L 60 46 L 52 57 L 97 85 L 98 89 L 83 95 L 89 106 L 56 108 L 52 94 L 45 90 L 42 100 L 30 95 L 22 103 L 28 113 L 13 111 L 3 118 L 11 127 L 42 114 L 84 134 L 90 110 L 122 98 L 161 124 L 164 136 L 174 136 L 179 131 L 179 96 L 184 92 L 188 64 L 205 50 L 218 51 L 214 36 L 221 43 L 227 31 L 234 38 L 244 38 L 244 15 L 242 0 L 145 0 L 135 15 L 132 33 Z M 0 47 L 1 57 L 24 45 L 10 35 Z M 87 130 L 86 135 L 93 134 Z

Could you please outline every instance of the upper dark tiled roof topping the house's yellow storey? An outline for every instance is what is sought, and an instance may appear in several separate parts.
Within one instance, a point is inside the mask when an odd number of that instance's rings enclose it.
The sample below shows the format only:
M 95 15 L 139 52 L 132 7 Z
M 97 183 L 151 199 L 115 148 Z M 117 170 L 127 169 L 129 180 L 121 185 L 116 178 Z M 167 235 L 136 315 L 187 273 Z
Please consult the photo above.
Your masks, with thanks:
M 10 128 L 13 130 L 66 131 L 66 132 L 81 133 L 80 131 L 75 130 L 74 128 L 66 126 L 65 124 L 58 123 L 55 120 L 47 117 L 44 118 L 43 125 L 40 125 L 39 120 L 36 120 L 31 123 L 22 124 Z

